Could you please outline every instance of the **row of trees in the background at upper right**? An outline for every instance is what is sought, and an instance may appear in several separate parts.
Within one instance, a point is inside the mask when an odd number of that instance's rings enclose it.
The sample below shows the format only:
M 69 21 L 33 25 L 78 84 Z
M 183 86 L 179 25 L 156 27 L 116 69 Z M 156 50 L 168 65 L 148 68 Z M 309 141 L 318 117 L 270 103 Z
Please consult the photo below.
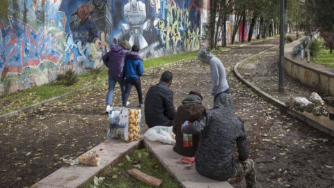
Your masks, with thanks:
M 321 36 L 332 38 L 334 36 L 334 1 L 333 0 L 285 0 L 286 30 L 305 31 L 310 34 L 319 29 Z M 222 46 L 226 47 L 227 31 L 226 23 L 234 15 L 232 24 L 232 44 L 239 29 L 244 30 L 246 22 L 250 22 L 248 41 L 253 39 L 257 24 L 256 38 L 278 34 L 280 22 L 280 1 L 278 0 L 211 0 L 208 23 L 208 39 L 210 47 L 216 48 L 218 44 L 219 28 L 221 32 Z M 242 20 L 242 22 L 241 22 Z M 241 32 L 241 42 L 244 42 L 244 31 Z M 329 36 L 329 37 L 328 37 Z M 325 39 L 326 41 L 326 39 Z M 331 45 L 333 48 L 333 45 Z

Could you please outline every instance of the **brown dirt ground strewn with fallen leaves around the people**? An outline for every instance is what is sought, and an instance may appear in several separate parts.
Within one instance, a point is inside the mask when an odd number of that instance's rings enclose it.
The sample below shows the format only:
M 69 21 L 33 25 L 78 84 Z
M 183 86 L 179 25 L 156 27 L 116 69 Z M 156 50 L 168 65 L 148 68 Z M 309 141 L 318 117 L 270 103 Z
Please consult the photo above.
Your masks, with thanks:
M 254 159 L 258 187 L 334 187 L 334 139 L 289 116 L 246 88 L 232 73 L 233 66 L 254 54 L 241 75 L 271 95 L 307 96 L 309 90 L 285 77 L 285 93 L 277 92 L 278 38 L 244 47 L 230 47 L 218 55 L 228 74 L 236 113 L 245 120 L 250 159 Z M 272 48 L 272 49 L 271 49 Z M 248 65 L 249 64 L 249 65 Z M 173 72 L 175 107 L 189 91 L 199 91 L 203 104 L 213 107 L 209 95 L 209 65 L 198 60 L 148 70 L 142 78 L 143 93 L 165 70 Z M 79 157 L 106 139 L 108 116 L 104 113 L 107 86 L 45 105 L 0 122 L 0 187 L 30 187 L 65 164 L 62 158 Z M 129 99 L 136 106 L 136 90 Z M 114 93 L 120 106 L 120 90 Z M 147 129 L 145 122 L 142 130 Z M 244 180 L 230 180 L 233 187 L 246 187 Z

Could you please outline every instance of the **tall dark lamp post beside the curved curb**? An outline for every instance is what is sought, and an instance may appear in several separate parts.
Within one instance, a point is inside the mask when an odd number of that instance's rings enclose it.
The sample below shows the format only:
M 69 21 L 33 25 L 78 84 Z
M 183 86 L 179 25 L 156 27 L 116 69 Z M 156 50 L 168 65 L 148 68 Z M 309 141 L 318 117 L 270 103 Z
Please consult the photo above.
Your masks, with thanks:
M 279 79 L 278 91 L 284 91 L 284 36 L 285 36 L 285 0 L 280 0 L 280 63 L 279 63 Z

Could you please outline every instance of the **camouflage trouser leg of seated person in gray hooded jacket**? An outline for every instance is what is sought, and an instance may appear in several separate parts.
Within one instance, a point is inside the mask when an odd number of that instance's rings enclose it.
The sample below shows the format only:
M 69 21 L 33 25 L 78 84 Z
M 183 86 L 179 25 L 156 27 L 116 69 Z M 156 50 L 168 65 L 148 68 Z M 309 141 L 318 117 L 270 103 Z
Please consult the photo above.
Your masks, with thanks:
M 233 177 L 245 177 L 246 187 L 253 188 L 256 185 L 256 175 L 254 169 L 254 162 L 252 159 L 246 161 L 235 160 L 237 169 L 235 170 Z

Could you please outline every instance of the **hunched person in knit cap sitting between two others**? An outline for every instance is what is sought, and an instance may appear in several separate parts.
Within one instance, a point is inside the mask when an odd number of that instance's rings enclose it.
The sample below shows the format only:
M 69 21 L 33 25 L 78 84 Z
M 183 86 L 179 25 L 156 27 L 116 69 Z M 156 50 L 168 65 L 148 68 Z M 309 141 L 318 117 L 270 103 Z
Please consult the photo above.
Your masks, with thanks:
M 182 100 L 182 105 L 177 108 L 174 120 L 173 120 L 173 132 L 175 133 L 175 146 L 173 150 L 180 155 L 186 157 L 193 157 L 196 154 L 198 148 L 199 136 L 193 134 L 192 146 L 184 146 L 184 137 L 181 132 L 181 125 L 184 121 L 188 120 L 193 122 L 197 120 L 202 115 L 205 107 L 202 105 L 203 97 L 200 93 L 196 91 L 190 91 L 184 100 Z

